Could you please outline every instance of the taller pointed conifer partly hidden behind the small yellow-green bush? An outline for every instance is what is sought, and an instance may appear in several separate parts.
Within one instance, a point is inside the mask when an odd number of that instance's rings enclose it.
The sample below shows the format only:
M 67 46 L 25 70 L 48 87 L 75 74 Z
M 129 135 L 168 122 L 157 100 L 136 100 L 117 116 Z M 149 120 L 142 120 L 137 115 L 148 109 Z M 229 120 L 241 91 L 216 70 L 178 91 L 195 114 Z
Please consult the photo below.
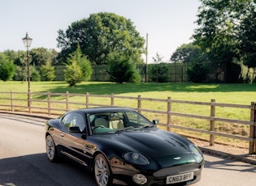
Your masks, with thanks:
M 78 44 L 75 52 L 71 53 L 67 58 L 68 63 L 72 61 L 77 61 L 77 64 L 80 66 L 80 69 L 83 73 L 82 81 L 88 81 L 93 74 L 93 69 L 89 59 L 81 52 L 80 45 Z

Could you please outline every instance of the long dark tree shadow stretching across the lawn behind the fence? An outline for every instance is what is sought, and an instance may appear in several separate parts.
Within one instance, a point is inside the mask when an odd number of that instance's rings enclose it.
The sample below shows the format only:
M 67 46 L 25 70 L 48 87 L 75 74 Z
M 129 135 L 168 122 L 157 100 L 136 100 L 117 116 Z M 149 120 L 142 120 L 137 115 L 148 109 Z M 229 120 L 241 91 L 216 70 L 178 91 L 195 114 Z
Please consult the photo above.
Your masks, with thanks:
M 170 92 L 232 92 L 232 91 L 255 91 L 256 84 L 189 84 L 189 83 L 90 83 L 77 84 L 76 87 L 62 87 L 61 84 L 50 88 L 53 93 L 110 95 L 125 93 L 141 93 L 149 91 L 170 91 Z

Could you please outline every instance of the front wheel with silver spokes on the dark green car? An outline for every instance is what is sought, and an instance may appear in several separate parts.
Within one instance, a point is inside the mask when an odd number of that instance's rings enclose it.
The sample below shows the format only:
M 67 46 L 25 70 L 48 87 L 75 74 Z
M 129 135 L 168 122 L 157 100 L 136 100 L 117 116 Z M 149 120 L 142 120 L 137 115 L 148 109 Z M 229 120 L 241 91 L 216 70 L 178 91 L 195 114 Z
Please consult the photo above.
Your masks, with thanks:
M 98 154 L 93 161 L 94 178 L 98 186 L 112 184 L 112 175 L 109 163 L 103 154 Z

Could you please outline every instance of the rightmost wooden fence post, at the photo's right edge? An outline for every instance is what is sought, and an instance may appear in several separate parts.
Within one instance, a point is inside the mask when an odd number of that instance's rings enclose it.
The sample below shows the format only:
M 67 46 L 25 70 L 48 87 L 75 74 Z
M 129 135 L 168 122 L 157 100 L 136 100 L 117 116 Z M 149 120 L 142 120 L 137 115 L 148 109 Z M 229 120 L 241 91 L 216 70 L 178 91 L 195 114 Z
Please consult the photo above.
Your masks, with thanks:
M 254 139 L 254 142 L 249 142 L 249 154 L 256 154 L 256 103 L 251 103 L 250 109 L 250 121 L 253 121 L 254 125 L 249 127 L 249 137 Z

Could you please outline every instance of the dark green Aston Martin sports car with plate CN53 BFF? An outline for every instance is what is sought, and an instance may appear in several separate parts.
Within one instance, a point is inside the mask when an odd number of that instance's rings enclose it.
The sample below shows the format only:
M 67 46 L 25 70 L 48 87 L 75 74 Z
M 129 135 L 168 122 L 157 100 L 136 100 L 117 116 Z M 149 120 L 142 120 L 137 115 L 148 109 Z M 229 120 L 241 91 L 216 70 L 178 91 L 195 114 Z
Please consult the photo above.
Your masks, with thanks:
M 85 108 L 46 122 L 46 154 L 93 171 L 100 186 L 189 185 L 201 179 L 202 152 L 132 108 Z

